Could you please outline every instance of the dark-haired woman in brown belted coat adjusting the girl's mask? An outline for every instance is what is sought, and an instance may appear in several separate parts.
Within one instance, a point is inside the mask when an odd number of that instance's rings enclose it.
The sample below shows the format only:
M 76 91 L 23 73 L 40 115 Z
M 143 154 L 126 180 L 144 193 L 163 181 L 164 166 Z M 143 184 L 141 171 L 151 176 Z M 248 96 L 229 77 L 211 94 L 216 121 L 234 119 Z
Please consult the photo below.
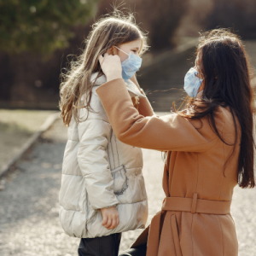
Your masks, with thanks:
M 99 61 L 108 82 L 96 93 L 119 140 L 168 151 L 162 209 L 121 255 L 238 255 L 233 189 L 255 185 L 253 91 L 241 40 L 225 30 L 207 32 L 196 51 L 197 72 L 185 78 L 194 97 L 183 111 L 163 117 L 144 117 L 133 107 L 118 56 Z

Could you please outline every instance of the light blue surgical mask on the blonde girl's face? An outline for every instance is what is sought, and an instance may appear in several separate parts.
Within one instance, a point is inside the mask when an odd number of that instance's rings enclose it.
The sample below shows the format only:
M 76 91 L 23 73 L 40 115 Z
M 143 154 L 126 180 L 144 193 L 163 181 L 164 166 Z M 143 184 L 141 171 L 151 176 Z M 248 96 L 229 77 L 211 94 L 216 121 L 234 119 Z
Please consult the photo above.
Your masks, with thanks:
M 116 49 L 118 47 L 114 46 Z M 128 55 L 124 50 L 119 49 Z M 129 54 L 128 59 L 122 62 L 122 77 L 125 81 L 131 79 L 131 77 L 140 69 L 142 66 L 143 59 L 137 55 Z

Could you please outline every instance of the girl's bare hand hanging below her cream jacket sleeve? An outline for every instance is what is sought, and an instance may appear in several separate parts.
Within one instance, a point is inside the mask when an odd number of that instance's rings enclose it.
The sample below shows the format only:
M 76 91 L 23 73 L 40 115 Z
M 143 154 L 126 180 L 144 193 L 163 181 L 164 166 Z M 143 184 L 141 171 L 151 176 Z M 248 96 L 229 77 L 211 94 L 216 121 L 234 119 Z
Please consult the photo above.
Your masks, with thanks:
M 102 226 L 108 230 L 113 230 L 119 224 L 119 212 L 116 207 L 102 208 Z

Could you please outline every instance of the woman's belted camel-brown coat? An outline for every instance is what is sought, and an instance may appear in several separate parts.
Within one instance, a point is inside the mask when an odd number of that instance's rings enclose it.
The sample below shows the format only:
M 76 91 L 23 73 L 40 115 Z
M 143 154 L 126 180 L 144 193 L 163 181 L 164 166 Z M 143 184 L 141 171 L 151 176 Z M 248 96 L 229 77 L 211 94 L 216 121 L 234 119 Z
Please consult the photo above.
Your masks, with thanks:
M 96 92 L 120 141 L 168 151 L 163 178 L 166 202 L 153 218 L 149 236 L 144 230 L 133 247 L 148 240 L 147 256 L 238 255 L 230 201 L 237 184 L 240 131 L 232 154 L 234 146 L 218 138 L 207 117 L 191 120 L 177 113 L 158 117 L 146 99 L 140 102 L 140 114 L 123 79 L 102 84 Z M 218 108 L 215 122 L 225 142 L 234 143 L 229 108 Z

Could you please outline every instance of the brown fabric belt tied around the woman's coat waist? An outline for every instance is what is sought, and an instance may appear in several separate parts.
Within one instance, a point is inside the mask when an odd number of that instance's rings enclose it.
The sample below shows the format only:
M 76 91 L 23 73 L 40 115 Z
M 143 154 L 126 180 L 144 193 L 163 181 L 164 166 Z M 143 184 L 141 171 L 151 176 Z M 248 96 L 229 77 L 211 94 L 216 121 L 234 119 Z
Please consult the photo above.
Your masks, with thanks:
M 150 224 L 147 256 L 182 256 L 174 212 L 228 214 L 230 205 L 231 201 L 197 199 L 196 193 L 193 198 L 166 197 L 163 201 L 162 211 L 156 213 Z M 160 230 L 163 212 L 166 212 L 166 217 Z

